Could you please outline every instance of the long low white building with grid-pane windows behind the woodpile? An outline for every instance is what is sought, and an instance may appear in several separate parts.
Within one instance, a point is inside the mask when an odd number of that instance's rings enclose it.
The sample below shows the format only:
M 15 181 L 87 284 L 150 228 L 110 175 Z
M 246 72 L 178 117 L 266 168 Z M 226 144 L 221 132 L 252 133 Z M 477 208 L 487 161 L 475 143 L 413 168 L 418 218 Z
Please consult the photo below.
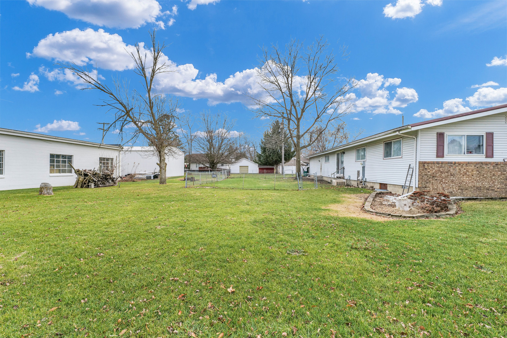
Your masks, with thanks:
M 76 169 L 121 172 L 120 145 L 0 128 L 0 190 L 73 185 Z

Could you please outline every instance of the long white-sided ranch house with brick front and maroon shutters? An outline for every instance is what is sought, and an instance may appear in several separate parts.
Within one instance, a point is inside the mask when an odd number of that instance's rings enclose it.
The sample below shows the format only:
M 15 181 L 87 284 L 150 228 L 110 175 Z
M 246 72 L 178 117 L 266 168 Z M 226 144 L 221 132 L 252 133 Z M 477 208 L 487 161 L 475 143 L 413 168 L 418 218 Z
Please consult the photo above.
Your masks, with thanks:
M 312 154 L 310 173 L 376 189 L 507 197 L 507 104 L 391 129 Z M 337 173 L 337 171 L 339 172 Z

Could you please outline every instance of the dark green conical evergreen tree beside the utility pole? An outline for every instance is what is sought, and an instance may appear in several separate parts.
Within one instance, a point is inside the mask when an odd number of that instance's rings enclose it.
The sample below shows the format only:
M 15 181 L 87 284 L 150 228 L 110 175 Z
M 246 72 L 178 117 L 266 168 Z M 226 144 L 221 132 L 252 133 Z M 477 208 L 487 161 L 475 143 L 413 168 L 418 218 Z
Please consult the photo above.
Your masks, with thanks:
M 283 138 L 283 141 L 282 141 Z M 260 153 L 257 154 L 257 163 L 263 166 L 277 166 L 282 163 L 282 142 L 284 143 L 284 162 L 290 161 L 296 152 L 287 132 L 283 131 L 278 120 L 273 121 L 268 130 L 264 132 L 260 144 Z

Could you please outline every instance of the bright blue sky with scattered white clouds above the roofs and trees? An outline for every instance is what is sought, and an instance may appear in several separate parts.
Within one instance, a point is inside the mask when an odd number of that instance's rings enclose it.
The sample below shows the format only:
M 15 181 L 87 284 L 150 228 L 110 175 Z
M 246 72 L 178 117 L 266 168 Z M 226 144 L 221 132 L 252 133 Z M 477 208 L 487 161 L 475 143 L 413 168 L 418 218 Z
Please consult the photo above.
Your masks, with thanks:
M 505 1 L 2 1 L 0 127 L 100 141 L 96 122 L 112 120 L 55 62 L 98 67 L 103 82 L 138 79 L 125 49 L 168 47 L 177 74 L 160 90 L 192 114 L 209 109 L 260 138 L 246 93 L 255 88 L 260 46 L 311 43 L 323 34 L 348 46 L 337 76 L 357 81 L 351 131 L 374 134 L 405 123 L 507 103 Z M 226 81 L 227 80 L 227 81 Z M 77 88 L 78 87 L 78 88 Z M 108 134 L 105 142 L 117 142 Z

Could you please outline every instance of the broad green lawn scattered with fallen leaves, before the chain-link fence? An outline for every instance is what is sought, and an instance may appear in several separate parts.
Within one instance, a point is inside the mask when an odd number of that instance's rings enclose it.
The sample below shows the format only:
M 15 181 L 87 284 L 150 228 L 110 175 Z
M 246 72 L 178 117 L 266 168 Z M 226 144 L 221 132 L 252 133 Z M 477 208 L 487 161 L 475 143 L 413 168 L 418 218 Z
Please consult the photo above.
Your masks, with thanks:
M 324 208 L 357 189 L 183 185 L 0 192 L 0 337 L 506 336 L 507 202 L 373 221 Z

